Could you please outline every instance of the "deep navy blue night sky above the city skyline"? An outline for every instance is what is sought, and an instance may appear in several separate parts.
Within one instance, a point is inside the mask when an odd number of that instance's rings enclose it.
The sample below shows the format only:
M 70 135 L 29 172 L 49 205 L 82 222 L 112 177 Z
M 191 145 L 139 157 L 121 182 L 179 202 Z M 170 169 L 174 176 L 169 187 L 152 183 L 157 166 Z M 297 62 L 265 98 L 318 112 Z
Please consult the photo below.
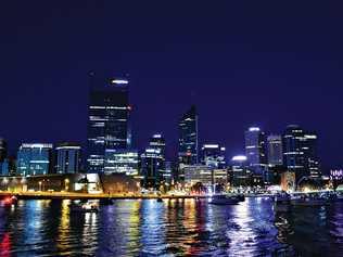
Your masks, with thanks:
M 339 2 L 339 1 L 338 1 Z M 298 124 L 325 167 L 343 160 L 343 5 L 330 1 L 2 1 L 0 137 L 86 141 L 90 70 L 130 75 L 139 149 L 176 153 L 198 105 L 200 139 L 243 153 L 243 131 Z

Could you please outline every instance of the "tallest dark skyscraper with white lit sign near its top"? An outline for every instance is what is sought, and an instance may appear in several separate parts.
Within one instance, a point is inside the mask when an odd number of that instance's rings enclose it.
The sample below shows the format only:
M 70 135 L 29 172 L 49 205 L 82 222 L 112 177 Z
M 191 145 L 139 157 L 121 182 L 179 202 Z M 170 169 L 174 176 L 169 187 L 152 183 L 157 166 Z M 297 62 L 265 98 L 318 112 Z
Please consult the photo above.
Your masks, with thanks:
M 103 172 L 105 152 L 130 146 L 128 80 L 92 77 L 88 119 L 88 171 Z

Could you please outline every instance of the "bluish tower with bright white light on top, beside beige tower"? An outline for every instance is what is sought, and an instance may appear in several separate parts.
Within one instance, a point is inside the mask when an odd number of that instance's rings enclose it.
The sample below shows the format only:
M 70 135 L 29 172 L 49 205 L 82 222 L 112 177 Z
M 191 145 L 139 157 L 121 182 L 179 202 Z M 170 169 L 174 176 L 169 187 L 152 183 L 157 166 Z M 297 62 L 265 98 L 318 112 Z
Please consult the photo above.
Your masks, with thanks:
M 245 131 L 245 155 L 250 168 L 257 175 L 263 175 L 267 166 L 265 133 L 257 127 Z

